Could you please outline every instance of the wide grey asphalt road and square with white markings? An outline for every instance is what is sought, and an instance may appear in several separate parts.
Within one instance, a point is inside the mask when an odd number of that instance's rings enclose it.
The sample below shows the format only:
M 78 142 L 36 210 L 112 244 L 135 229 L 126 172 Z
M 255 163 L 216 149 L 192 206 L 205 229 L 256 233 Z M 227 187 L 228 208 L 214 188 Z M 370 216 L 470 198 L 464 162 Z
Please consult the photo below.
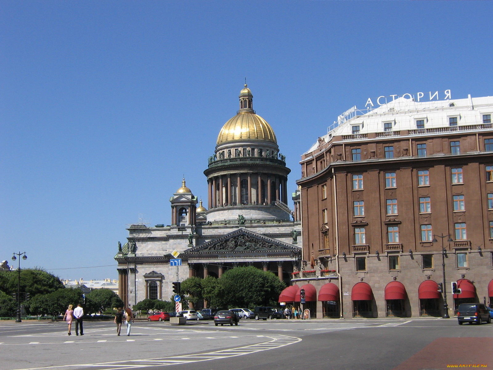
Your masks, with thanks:
M 456 319 L 241 320 L 239 326 L 0 322 L 0 370 L 493 368 L 493 324 Z M 170 368 L 171 366 L 171 368 Z

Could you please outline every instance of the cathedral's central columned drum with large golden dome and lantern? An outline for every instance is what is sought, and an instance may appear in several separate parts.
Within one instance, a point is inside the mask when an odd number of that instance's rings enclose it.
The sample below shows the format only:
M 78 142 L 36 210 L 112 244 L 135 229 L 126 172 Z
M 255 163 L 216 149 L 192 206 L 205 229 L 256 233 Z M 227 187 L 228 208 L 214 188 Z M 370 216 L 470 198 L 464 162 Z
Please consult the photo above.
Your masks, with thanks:
M 289 221 L 286 211 L 285 157 L 279 153 L 276 134 L 253 110 L 253 95 L 245 84 L 240 110 L 221 128 L 215 153 L 209 158 L 207 219 L 251 222 Z

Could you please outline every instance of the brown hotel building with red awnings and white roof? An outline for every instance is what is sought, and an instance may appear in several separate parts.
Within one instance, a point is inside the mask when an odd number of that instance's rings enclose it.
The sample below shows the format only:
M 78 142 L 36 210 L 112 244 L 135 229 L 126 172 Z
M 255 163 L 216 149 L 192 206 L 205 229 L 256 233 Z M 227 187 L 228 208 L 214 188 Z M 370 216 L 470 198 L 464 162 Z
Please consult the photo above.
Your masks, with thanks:
M 453 316 L 459 303 L 493 303 L 493 97 L 419 94 L 354 107 L 302 156 L 292 282 L 317 317 L 442 316 L 444 298 Z

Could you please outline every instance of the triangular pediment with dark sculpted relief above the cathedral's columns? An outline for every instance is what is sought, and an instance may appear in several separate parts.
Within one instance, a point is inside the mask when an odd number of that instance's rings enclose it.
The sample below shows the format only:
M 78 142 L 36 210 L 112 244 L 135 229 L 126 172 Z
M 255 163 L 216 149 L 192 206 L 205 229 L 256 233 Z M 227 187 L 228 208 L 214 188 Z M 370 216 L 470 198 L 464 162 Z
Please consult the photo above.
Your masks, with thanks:
M 300 248 L 246 229 L 238 229 L 205 244 L 187 249 L 186 254 L 299 252 Z

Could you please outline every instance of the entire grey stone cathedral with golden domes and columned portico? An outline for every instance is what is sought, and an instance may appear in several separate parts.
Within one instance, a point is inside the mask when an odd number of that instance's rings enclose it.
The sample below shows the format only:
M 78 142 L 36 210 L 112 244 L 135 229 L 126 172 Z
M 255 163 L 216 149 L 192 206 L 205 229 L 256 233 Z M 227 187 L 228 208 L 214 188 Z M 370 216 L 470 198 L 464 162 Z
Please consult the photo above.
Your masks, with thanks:
M 204 171 L 209 209 L 202 200 L 197 207 L 199 200 L 183 179 L 170 198 L 171 225 L 128 228 L 128 242 L 115 256 L 119 295 L 126 306 L 145 298 L 171 299 L 176 267 L 169 260 L 174 250 L 182 259 L 179 281 L 220 277 L 229 268 L 254 266 L 272 271 L 289 285 L 292 271 L 299 270 L 299 192 L 292 198 L 293 212 L 287 206 L 290 169 L 274 130 L 253 110 L 246 85 L 239 98 L 240 110 L 220 130 Z

